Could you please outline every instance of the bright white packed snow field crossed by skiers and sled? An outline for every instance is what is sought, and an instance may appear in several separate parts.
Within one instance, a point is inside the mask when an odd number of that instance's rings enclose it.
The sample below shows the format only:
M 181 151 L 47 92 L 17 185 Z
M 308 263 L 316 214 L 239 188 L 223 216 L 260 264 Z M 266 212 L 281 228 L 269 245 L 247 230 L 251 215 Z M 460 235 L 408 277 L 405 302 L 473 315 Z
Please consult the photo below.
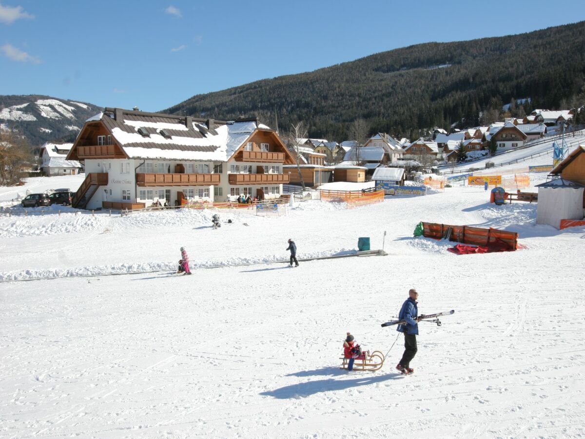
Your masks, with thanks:
M 353 210 L 219 211 L 219 229 L 213 211 L 4 215 L 0 437 L 583 437 L 585 228 L 488 198 L 453 187 Z M 414 238 L 418 221 L 517 231 L 525 248 L 456 256 Z M 360 236 L 388 256 L 302 262 Z M 288 238 L 298 268 L 271 263 Z M 180 246 L 192 276 L 170 274 Z M 411 287 L 419 313 L 455 314 L 419 324 L 402 376 L 402 336 L 380 324 Z M 339 369 L 347 331 L 388 352 L 380 371 Z

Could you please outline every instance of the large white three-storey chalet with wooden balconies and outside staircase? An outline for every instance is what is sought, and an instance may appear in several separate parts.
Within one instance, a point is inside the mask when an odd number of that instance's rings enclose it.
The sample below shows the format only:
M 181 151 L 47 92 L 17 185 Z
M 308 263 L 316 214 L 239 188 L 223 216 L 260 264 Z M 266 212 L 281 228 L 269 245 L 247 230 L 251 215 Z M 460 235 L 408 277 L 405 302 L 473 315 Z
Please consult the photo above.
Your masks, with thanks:
M 105 108 L 88 119 L 67 160 L 85 163 L 80 208 L 137 208 L 156 201 L 276 198 L 294 161 L 257 119 L 234 122 Z

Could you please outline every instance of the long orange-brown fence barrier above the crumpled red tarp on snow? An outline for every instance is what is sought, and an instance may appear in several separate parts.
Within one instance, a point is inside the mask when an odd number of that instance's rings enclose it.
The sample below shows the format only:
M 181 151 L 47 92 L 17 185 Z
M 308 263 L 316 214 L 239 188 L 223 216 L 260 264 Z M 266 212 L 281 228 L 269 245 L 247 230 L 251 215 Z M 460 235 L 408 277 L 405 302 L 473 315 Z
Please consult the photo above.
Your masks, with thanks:
M 423 222 L 422 235 L 426 238 L 442 239 L 449 235 L 449 241 L 463 242 L 472 245 L 489 245 L 491 243 L 505 242 L 510 249 L 518 248 L 518 234 L 493 228 L 471 227 L 469 225 L 448 225 Z M 447 231 L 451 229 L 450 234 Z

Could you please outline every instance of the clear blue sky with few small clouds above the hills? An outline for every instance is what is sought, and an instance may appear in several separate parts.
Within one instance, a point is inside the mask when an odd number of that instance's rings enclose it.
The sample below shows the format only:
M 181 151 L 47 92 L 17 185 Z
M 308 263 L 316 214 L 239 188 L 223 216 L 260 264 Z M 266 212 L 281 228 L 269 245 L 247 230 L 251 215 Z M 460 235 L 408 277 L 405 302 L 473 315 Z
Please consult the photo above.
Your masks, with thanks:
M 0 0 L 0 94 L 154 112 L 411 44 L 581 20 L 582 0 Z

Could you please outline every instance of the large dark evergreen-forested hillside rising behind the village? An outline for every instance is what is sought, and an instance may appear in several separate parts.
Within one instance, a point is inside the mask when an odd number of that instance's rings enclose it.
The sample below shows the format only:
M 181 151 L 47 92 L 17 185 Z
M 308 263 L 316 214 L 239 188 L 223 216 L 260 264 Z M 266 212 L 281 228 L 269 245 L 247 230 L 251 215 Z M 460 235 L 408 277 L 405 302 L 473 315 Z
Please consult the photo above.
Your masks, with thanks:
M 370 133 L 416 139 L 419 129 L 432 126 L 491 122 L 512 98 L 531 98 L 512 108 L 518 116 L 534 108 L 583 104 L 584 74 L 585 22 L 579 22 L 520 35 L 417 44 L 195 95 L 164 112 L 223 120 L 256 115 L 271 126 L 277 114 L 280 131 L 304 121 L 309 136 L 332 140 L 346 139 L 352 122 L 363 118 Z

